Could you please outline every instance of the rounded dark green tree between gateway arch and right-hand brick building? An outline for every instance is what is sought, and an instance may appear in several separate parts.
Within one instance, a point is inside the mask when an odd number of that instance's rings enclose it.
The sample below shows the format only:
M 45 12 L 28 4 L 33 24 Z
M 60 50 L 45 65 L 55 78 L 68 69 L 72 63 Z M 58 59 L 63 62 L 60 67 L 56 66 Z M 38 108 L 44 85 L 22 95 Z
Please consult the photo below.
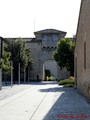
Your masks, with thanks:
M 62 38 L 57 43 L 54 59 L 61 69 L 66 67 L 70 75 L 74 75 L 74 46 L 75 42 L 70 38 Z

